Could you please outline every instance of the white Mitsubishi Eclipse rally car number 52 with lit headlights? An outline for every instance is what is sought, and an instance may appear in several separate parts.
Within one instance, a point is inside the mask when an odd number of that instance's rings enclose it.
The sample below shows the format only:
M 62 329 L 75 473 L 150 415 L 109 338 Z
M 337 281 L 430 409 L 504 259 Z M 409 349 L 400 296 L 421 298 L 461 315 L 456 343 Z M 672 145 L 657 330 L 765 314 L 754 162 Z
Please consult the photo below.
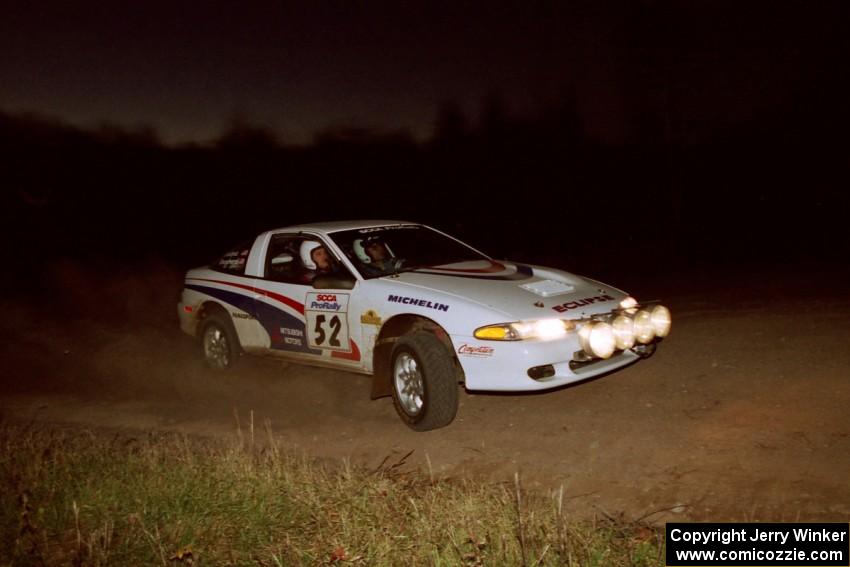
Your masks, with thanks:
M 243 352 L 372 374 L 416 430 L 468 390 L 556 388 L 649 356 L 670 312 L 568 272 L 498 261 L 425 225 L 264 232 L 186 274 L 180 325 L 206 361 Z

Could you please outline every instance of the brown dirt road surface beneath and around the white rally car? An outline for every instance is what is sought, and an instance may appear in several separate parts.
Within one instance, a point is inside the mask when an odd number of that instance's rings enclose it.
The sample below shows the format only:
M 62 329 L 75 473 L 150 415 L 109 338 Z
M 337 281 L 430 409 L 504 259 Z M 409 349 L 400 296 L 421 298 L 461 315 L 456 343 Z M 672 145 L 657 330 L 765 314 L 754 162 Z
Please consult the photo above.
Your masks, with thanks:
M 407 429 L 389 398 L 370 400 L 367 376 L 259 358 L 207 370 L 177 329 L 176 272 L 130 270 L 104 286 L 62 266 L 50 278 L 49 297 L 4 306 L 5 420 L 218 436 L 250 435 L 253 419 L 256 435 L 268 424 L 318 458 L 377 467 L 413 451 L 404 466 L 435 475 L 518 472 L 529 488 L 563 486 L 577 516 L 850 518 L 843 277 L 643 284 L 674 316 L 654 357 L 547 393 L 462 392 L 456 421 L 427 433 Z

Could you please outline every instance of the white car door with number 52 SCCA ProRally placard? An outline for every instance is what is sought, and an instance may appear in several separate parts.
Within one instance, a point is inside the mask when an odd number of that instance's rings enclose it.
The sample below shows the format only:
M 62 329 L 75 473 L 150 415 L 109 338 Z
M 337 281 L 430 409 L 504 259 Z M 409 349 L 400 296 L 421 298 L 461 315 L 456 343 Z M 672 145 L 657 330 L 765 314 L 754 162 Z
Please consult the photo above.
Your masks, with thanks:
M 334 276 L 324 278 L 324 285 L 355 280 L 318 236 L 273 234 L 255 300 L 257 318 L 269 335 L 269 352 L 302 362 L 359 369 L 360 326 L 353 324 L 349 309 L 355 290 L 314 287 L 311 280 L 316 274 L 311 274 L 300 255 L 305 242 L 318 242 L 331 255 Z

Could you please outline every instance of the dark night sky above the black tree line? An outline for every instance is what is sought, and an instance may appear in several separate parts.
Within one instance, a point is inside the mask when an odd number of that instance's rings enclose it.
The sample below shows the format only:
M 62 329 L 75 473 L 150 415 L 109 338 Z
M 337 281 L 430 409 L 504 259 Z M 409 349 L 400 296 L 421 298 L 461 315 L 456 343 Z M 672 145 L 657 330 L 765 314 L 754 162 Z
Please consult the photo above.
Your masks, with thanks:
M 842 3 L 597 4 L 7 2 L 0 110 L 307 143 L 341 127 L 424 139 L 445 101 L 474 118 L 488 94 L 520 115 L 571 95 L 587 136 L 619 142 L 668 88 L 687 142 L 846 73 Z

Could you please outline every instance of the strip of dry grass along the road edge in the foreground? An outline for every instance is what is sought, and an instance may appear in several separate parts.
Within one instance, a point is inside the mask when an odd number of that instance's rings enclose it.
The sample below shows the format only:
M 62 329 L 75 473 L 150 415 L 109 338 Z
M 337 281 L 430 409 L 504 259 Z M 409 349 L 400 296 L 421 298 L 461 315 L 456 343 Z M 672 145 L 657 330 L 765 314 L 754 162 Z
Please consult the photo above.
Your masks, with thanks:
M 661 535 L 563 492 L 328 466 L 228 440 L 0 427 L 12 565 L 662 565 Z M 260 437 L 260 435 L 257 435 Z

